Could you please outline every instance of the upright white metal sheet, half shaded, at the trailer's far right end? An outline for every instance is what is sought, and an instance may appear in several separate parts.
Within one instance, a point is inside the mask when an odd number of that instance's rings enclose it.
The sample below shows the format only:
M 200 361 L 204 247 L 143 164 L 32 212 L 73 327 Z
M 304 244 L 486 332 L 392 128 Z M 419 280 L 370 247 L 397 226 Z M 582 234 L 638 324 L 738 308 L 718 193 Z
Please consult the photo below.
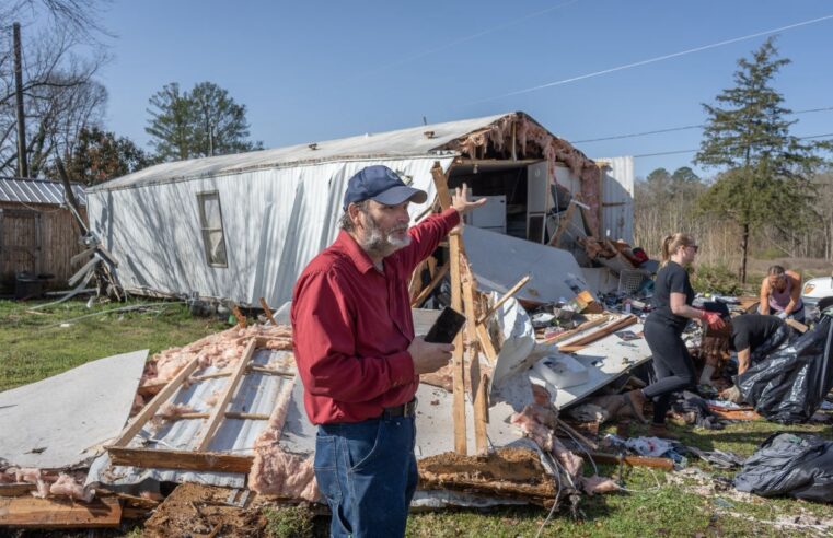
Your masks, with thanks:
M 602 233 L 611 239 L 634 241 L 634 157 L 597 159 L 604 163 Z

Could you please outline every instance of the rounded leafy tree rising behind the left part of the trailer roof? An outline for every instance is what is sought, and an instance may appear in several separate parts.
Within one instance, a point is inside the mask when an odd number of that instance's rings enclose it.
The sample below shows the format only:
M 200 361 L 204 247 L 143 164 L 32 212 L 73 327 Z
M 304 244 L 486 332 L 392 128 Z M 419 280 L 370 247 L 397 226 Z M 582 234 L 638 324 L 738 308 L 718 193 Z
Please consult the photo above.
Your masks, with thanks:
M 227 90 L 200 82 L 182 92 L 175 82 L 150 98 L 146 131 L 160 161 L 240 153 L 262 148 L 248 140 L 246 107 Z

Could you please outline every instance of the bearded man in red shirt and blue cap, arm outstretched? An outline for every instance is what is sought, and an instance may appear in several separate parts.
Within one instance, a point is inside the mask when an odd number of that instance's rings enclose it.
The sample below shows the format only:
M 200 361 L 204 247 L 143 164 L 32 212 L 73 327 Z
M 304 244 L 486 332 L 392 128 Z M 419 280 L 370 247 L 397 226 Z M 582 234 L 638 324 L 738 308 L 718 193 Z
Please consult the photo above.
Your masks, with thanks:
M 292 293 L 294 356 L 304 407 L 319 425 L 315 478 L 333 512 L 332 536 L 404 536 L 416 490 L 414 398 L 419 374 L 448 364 L 454 347 L 415 337 L 408 281 L 470 202 L 408 229 L 410 201 L 427 195 L 385 166 L 352 176 L 335 243 Z

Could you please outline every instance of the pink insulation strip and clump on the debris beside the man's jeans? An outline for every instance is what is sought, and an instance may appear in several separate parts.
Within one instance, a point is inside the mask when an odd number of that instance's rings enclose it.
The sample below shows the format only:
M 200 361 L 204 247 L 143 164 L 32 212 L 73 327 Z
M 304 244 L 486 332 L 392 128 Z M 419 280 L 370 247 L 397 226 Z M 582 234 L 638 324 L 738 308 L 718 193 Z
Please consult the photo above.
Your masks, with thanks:
M 248 488 L 257 493 L 312 502 L 320 496 L 312 457 L 289 454 L 278 444 L 292 397 L 292 385 L 291 382 L 284 384 L 269 422 L 255 441 Z

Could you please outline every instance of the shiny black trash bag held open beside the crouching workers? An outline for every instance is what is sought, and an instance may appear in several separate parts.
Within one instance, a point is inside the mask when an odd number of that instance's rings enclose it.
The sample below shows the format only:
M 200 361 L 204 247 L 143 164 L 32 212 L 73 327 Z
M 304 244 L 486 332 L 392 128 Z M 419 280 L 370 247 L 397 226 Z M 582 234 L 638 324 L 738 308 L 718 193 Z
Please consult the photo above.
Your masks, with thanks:
M 744 401 L 767 420 L 807 422 L 833 388 L 833 325 L 823 316 L 792 344 L 734 378 Z

